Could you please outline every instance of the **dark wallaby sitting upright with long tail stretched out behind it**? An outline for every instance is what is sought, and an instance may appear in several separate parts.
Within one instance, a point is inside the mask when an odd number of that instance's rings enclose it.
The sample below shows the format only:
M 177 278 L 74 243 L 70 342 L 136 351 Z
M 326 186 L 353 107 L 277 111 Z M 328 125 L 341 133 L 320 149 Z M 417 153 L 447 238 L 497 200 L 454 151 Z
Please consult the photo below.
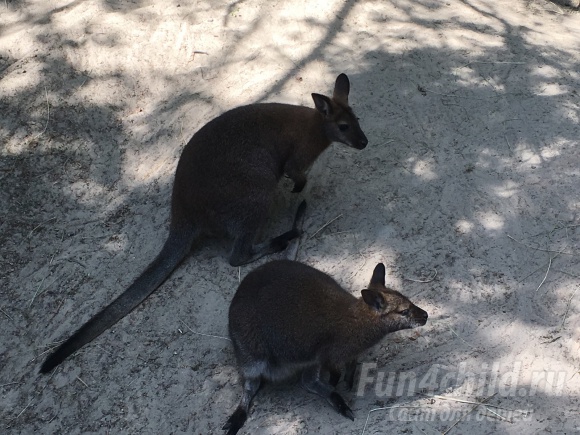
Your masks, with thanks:
M 304 203 L 291 230 L 255 244 L 278 180 L 286 174 L 294 182 L 293 192 L 300 192 L 305 171 L 332 142 L 356 149 L 368 143 L 348 105 L 349 90 L 348 77 L 340 74 L 332 98 L 312 94 L 315 109 L 250 104 L 223 113 L 195 133 L 177 164 L 169 236 L 161 252 L 124 293 L 49 355 L 40 372 L 50 372 L 129 314 L 167 279 L 201 236 L 232 238 L 232 266 L 284 250 L 300 235 L 296 222 Z

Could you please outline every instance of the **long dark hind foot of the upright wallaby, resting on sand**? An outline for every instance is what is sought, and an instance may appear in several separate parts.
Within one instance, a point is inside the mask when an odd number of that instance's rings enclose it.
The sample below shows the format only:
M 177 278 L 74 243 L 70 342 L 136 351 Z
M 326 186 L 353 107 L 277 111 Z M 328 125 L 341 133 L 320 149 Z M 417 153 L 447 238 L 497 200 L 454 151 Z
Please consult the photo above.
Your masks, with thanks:
M 298 206 L 296 215 L 294 216 L 294 223 L 292 224 L 292 229 L 286 231 L 284 234 L 280 234 L 273 239 L 265 243 L 260 243 L 259 245 L 254 245 L 255 234 L 245 233 L 238 237 L 234 241 L 234 247 L 232 253 L 230 254 L 230 265 L 232 266 L 242 266 L 244 264 L 252 263 L 264 255 L 274 254 L 276 252 L 283 251 L 288 246 L 288 243 L 299 237 L 301 234 L 298 228 L 299 222 L 304 215 L 306 210 L 306 201 L 302 201 Z

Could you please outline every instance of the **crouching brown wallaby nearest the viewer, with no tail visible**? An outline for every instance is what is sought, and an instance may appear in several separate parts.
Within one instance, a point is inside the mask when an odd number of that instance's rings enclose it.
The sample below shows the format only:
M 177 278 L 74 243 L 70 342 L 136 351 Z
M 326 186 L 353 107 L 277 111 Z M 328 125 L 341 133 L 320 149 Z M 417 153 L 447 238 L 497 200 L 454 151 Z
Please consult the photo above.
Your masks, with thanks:
M 262 381 L 296 375 L 308 391 L 354 420 L 334 388 L 340 368 L 346 365 L 352 388 L 358 354 L 390 332 L 427 322 L 425 311 L 385 287 L 381 263 L 361 295 L 357 299 L 325 273 L 289 260 L 266 263 L 242 280 L 230 305 L 229 333 L 244 391 L 223 427 L 228 435 L 243 426 Z

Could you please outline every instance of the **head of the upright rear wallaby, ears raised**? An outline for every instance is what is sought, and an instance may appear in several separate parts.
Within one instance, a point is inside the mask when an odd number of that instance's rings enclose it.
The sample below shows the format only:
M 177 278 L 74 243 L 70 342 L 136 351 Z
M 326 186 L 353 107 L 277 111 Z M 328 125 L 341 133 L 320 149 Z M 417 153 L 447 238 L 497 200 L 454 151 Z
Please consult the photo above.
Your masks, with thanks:
M 324 118 L 324 131 L 332 142 L 340 142 L 358 150 L 367 146 L 368 140 L 362 132 L 358 119 L 348 105 L 350 82 L 346 74 L 336 78 L 332 98 L 312 94 L 316 110 Z

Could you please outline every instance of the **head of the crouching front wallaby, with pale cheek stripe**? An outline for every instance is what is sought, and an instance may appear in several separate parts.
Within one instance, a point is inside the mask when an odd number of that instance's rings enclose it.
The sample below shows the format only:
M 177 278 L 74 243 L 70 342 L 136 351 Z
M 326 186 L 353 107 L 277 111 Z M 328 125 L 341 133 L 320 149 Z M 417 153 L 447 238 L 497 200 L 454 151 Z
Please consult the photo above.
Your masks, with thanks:
M 361 303 L 369 315 L 388 329 L 388 332 L 411 329 L 427 323 L 427 312 L 413 304 L 398 291 L 385 287 L 385 266 L 377 264 L 369 287 L 361 292 Z

